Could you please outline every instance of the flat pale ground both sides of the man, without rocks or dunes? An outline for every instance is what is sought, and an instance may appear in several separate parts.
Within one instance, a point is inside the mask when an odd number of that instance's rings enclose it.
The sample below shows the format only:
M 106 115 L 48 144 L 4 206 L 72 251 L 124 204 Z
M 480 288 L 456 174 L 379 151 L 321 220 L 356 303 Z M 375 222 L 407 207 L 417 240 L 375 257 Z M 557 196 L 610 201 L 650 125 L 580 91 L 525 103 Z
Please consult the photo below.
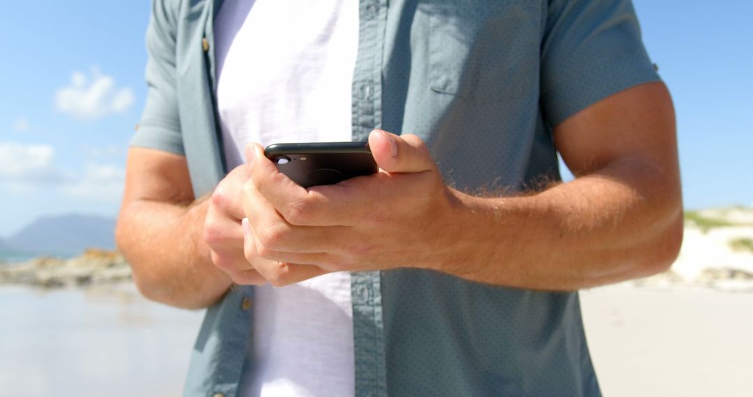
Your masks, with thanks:
M 626 284 L 581 292 L 607 397 L 753 395 L 753 293 Z M 200 311 L 132 286 L 0 288 L 0 396 L 180 395 Z

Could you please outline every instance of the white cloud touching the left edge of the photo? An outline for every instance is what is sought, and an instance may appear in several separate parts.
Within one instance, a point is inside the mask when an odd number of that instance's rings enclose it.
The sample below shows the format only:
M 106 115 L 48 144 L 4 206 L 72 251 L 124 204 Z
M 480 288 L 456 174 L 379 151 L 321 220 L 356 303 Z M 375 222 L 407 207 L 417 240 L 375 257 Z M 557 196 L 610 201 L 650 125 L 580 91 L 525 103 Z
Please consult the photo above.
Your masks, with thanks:
M 21 185 L 59 182 L 62 176 L 53 168 L 54 156 L 49 145 L 0 142 L 0 181 Z

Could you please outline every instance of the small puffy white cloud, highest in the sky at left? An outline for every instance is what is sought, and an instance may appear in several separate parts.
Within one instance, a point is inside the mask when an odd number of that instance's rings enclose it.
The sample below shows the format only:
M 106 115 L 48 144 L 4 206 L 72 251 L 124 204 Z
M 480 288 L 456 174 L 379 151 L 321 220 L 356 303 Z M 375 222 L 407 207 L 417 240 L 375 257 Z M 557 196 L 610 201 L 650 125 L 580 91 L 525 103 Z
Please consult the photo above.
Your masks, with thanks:
M 56 110 L 82 120 L 123 113 L 133 101 L 133 89 L 116 87 L 114 78 L 99 73 L 96 67 L 88 77 L 75 71 L 69 86 L 55 93 Z

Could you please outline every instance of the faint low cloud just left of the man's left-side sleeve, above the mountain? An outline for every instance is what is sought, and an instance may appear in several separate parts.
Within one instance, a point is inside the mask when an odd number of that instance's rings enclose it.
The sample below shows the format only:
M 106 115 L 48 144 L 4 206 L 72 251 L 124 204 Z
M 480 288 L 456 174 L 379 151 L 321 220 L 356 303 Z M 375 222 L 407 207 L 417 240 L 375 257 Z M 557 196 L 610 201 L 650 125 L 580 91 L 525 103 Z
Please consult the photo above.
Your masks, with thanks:
M 93 201 L 117 201 L 123 195 L 126 171 L 117 165 L 89 164 L 84 174 L 72 177 L 62 192 Z

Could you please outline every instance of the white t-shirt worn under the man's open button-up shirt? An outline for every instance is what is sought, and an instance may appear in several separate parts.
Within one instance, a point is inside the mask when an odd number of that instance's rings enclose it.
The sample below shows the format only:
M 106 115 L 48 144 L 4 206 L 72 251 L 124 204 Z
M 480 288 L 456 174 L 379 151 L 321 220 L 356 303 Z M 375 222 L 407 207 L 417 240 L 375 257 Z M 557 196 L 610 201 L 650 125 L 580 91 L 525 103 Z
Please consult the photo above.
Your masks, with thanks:
M 351 141 L 354 0 L 224 0 L 215 17 L 217 102 L 229 169 L 243 148 Z M 239 395 L 355 393 L 350 274 L 256 288 Z

